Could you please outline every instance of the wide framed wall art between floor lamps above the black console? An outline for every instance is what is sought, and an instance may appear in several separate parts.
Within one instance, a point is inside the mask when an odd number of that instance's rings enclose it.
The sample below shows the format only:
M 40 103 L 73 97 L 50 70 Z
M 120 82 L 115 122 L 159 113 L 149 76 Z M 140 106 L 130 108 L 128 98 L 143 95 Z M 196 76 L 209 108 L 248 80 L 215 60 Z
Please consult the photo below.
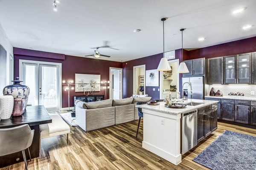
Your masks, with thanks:
M 100 91 L 100 74 L 75 74 L 75 92 Z

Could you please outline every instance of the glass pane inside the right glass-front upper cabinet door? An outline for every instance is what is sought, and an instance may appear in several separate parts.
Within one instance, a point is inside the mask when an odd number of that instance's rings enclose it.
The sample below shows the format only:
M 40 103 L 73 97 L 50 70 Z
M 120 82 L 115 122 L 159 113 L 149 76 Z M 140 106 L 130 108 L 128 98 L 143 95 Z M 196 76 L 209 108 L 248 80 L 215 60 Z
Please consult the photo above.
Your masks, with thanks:
M 248 55 L 239 56 L 239 83 L 250 82 L 250 57 Z

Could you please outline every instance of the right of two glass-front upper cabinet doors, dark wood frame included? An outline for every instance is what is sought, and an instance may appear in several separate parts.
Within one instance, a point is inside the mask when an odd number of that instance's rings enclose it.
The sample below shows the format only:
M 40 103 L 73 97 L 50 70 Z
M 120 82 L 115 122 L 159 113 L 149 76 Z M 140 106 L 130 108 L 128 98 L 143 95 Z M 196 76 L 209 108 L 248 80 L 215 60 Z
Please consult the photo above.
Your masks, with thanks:
M 251 53 L 237 56 L 237 75 L 236 83 L 251 83 Z

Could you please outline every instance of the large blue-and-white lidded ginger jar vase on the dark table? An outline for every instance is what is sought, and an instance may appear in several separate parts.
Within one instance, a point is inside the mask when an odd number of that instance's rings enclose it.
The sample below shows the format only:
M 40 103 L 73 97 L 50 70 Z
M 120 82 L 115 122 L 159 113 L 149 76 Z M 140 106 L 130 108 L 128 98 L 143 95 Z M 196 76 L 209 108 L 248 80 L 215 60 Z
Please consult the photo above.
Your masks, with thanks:
M 13 85 L 7 85 L 5 88 L 3 88 L 3 95 L 12 95 L 14 98 L 20 97 L 22 99 L 24 113 L 28 103 L 30 90 L 28 86 L 20 84 L 20 82 L 23 81 L 20 81 L 19 77 L 16 77 L 15 79 L 16 80 L 12 81 L 14 82 Z

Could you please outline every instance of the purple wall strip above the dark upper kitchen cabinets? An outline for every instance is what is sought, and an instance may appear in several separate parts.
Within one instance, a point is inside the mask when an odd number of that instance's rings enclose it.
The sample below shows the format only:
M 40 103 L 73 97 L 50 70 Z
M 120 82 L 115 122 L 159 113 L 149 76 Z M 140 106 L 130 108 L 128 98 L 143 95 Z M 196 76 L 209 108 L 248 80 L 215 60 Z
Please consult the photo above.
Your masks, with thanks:
M 256 51 L 256 37 L 251 37 L 243 40 L 227 42 L 223 44 L 213 45 L 205 48 L 199 48 L 189 51 L 188 58 L 214 58 L 223 57 L 234 54 L 243 54 Z M 184 58 L 185 60 L 185 58 Z

